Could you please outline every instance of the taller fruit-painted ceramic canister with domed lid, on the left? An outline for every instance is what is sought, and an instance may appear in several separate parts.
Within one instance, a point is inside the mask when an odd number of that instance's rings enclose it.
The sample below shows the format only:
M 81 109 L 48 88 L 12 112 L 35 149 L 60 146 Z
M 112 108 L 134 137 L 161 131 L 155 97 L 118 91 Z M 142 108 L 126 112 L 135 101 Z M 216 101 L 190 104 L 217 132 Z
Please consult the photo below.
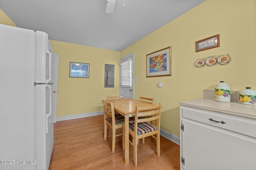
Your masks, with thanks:
M 215 86 L 215 100 L 221 102 L 230 102 L 230 87 L 224 81 Z

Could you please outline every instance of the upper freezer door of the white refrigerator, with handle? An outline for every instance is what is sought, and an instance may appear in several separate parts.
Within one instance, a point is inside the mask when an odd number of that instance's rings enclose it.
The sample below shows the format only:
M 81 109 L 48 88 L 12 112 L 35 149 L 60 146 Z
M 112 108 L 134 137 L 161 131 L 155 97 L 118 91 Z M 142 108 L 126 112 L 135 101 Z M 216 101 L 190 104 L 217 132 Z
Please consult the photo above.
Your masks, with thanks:
M 52 54 L 48 50 L 48 34 L 36 31 L 36 83 L 52 79 Z

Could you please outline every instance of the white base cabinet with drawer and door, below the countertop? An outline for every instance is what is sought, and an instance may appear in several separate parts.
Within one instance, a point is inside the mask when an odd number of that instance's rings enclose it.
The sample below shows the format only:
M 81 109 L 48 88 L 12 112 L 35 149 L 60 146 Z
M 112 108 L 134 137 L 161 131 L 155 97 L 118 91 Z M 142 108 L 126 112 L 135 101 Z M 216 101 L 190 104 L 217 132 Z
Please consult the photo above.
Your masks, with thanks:
M 256 119 L 180 106 L 181 170 L 256 170 Z

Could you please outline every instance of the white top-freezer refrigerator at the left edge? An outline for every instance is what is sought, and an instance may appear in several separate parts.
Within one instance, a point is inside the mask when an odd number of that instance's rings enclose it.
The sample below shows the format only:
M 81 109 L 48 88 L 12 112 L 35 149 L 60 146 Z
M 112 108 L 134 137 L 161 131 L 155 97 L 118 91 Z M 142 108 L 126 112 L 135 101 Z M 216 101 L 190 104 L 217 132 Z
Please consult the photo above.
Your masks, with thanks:
M 46 170 L 53 148 L 48 34 L 0 24 L 0 170 Z

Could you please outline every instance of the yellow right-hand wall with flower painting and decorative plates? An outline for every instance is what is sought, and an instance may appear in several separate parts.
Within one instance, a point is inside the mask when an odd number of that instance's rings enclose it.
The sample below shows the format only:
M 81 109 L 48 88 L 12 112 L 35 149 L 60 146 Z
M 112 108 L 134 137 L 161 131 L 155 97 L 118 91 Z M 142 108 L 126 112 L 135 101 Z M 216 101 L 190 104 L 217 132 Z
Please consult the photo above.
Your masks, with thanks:
M 220 34 L 220 47 L 195 52 L 195 42 Z M 146 78 L 146 54 L 172 46 L 172 76 Z M 223 80 L 232 91 L 256 89 L 256 1 L 206 0 L 162 28 L 121 51 L 134 52 L 135 99 L 154 97 L 162 103 L 161 128 L 180 136 L 179 104 L 200 99 Z M 196 59 L 230 54 L 226 65 L 195 66 Z M 163 83 L 162 88 L 157 83 Z

